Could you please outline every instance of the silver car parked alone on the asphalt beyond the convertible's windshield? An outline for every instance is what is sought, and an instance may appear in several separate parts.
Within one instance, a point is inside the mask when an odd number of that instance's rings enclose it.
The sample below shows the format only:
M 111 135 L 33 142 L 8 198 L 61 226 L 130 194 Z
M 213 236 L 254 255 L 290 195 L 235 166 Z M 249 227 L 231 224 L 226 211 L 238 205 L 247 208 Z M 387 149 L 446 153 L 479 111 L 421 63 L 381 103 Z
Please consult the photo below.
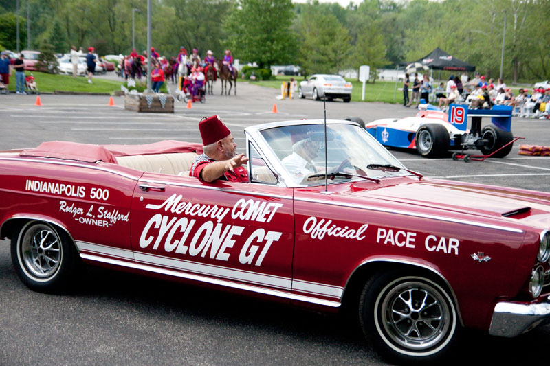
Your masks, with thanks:
M 300 98 L 311 96 L 314 100 L 320 100 L 325 94 L 327 100 L 342 98 L 344 102 L 349 102 L 352 91 L 351 82 L 347 82 L 340 75 L 315 74 L 300 82 L 298 96 Z

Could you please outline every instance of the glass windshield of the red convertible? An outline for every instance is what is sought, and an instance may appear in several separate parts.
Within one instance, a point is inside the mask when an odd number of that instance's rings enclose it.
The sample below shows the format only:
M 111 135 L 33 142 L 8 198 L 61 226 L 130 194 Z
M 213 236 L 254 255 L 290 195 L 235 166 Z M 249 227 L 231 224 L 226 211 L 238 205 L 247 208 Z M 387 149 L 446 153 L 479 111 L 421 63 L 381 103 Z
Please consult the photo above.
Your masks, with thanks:
M 281 126 L 263 130 L 261 134 L 294 183 L 325 184 L 323 124 Z M 393 155 L 355 124 L 327 124 L 327 147 L 328 172 L 333 174 L 329 183 L 378 181 L 384 176 L 409 174 Z

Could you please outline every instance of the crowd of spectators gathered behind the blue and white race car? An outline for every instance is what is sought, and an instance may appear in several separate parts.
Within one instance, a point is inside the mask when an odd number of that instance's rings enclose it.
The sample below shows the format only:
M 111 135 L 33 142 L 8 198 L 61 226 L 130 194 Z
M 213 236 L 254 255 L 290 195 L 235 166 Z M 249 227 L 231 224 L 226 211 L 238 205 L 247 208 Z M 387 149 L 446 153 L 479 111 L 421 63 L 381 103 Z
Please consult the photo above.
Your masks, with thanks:
M 410 98 L 409 88 L 412 89 Z M 404 106 L 411 106 L 414 101 L 418 106 L 421 99 L 428 103 L 430 95 L 434 95 L 432 101 L 437 102 L 442 111 L 447 111 L 448 106 L 453 103 L 467 104 L 470 109 L 492 108 L 496 104 L 511 106 L 516 116 L 550 118 L 550 88 L 533 88 L 532 93 L 529 93 L 529 89 L 520 89 L 518 95 L 514 95 L 503 79 L 498 78 L 495 82 L 490 78 L 486 81 L 485 76 L 477 72 L 473 79 L 466 73 L 460 78 L 451 75 L 446 84 L 441 82 L 433 89 L 428 75 L 419 80 L 418 73 L 415 73 L 411 82 L 410 75 L 405 74 Z

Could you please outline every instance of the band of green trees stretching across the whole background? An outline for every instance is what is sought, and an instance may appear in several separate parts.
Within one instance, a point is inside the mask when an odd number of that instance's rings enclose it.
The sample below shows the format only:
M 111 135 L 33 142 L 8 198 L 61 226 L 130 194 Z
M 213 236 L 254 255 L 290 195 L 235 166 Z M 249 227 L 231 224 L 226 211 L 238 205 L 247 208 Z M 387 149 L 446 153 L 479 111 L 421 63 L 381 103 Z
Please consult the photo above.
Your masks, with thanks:
M 32 49 L 52 44 L 95 47 L 99 54 L 129 54 L 132 9 L 135 43 L 146 49 L 144 0 L 28 0 Z M 337 72 L 359 64 L 395 67 L 440 47 L 484 73 L 500 76 L 506 27 L 505 80 L 550 79 L 548 0 L 355 0 L 293 5 L 292 0 L 152 0 L 153 46 L 175 56 L 179 47 L 212 49 L 221 57 L 262 67 L 300 65 L 309 71 Z M 16 4 L 0 0 L 0 44 L 17 47 Z M 27 1 L 19 1 L 20 49 L 27 41 Z M 505 24 L 506 16 L 506 24 Z M 309 72 L 308 71 L 308 72 Z

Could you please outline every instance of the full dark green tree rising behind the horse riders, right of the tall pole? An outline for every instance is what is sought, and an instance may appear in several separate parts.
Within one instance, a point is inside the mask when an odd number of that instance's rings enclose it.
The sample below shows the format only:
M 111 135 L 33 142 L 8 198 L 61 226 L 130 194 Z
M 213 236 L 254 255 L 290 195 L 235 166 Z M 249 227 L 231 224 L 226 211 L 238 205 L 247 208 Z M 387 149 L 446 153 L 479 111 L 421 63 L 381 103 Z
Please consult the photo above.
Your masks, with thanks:
M 261 68 L 294 60 L 292 7 L 291 0 L 238 0 L 223 22 L 234 55 Z

